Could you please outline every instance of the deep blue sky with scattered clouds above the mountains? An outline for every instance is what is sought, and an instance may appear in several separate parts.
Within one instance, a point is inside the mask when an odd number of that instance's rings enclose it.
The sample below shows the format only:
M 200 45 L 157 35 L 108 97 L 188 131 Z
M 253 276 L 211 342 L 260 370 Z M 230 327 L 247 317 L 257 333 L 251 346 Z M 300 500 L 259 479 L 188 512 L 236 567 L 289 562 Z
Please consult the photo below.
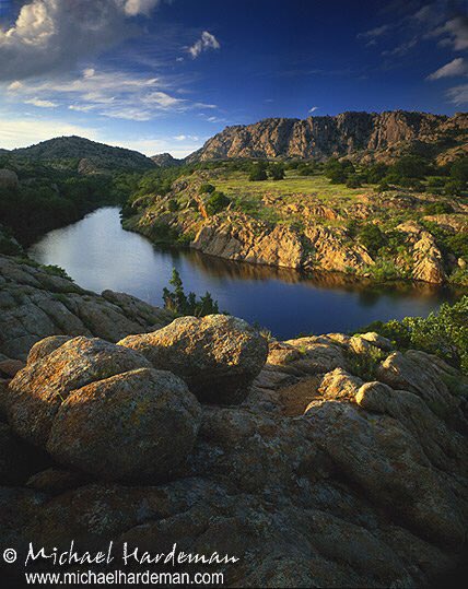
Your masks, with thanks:
M 0 0 L 0 148 L 468 105 L 468 0 Z

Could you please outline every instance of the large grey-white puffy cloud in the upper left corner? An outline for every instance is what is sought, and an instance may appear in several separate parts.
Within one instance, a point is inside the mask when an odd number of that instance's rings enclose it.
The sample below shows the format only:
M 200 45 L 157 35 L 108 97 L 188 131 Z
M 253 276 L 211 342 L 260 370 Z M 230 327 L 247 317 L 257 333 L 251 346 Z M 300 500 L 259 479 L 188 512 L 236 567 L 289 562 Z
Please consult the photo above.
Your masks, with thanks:
M 16 21 L 0 26 L 0 80 L 23 80 L 74 68 L 139 28 L 157 0 L 28 0 Z

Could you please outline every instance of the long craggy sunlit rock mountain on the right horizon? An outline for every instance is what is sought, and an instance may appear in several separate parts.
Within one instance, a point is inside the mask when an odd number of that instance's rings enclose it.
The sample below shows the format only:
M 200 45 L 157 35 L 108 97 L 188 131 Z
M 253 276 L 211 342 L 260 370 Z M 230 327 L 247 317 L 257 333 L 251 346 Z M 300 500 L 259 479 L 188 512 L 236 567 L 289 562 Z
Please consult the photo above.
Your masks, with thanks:
M 342 113 L 304 120 L 277 118 L 227 127 L 189 155 L 188 163 L 224 158 L 390 160 L 412 151 L 441 163 L 468 153 L 468 114 L 453 117 L 395 110 Z

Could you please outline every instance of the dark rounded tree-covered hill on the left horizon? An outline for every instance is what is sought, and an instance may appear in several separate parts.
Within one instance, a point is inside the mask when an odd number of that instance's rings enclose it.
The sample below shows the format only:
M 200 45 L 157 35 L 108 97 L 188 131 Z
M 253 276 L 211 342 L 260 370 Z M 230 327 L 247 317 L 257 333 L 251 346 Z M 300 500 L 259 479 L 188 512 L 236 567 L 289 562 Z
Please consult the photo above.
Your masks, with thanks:
M 155 167 L 145 155 L 124 148 L 113 148 L 81 137 L 58 137 L 43 141 L 30 148 L 12 150 L 13 155 L 33 160 L 72 160 L 78 158 L 79 172 L 93 173 L 103 169 L 151 169 Z

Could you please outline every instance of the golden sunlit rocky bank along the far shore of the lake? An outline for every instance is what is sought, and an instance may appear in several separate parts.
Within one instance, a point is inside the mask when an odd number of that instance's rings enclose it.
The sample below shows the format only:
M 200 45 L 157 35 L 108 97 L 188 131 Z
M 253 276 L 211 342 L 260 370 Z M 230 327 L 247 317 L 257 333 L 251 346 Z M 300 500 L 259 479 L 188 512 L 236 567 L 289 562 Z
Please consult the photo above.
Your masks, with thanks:
M 418 220 L 409 219 L 393 229 L 391 238 L 398 239 L 399 246 L 387 255 L 385 262 L 342 225 L 346 219 L 365 220 L 381 209 L 406 215 L 409 209 L 423 208 L 430 197 L 364 193 L 340 212 L 309 195 L 295 195 L 293 202 L 266 195 L 261 207 L 282 220 L 271 222 L 231 205 L 208 215 L 200 187 L 209 179 L 207 174 L 195 173 L 175 181 L 164 197 L 136 200 L 122 221 L 124 228 L 155 244 L 185 246 L 218 258 L 308 274 L 340 272 L 385 282 L 389 280 L 385 273 L 390 272 L 391 280 L 465 285 L 466 261 L 443 251 L 434 235 Z M 178 203 L 176 210 L 174 202 Z M 468 232 L 467 207 L 463 203 L 453 214 L 430 215 L 424 221 L 453 234 Z M 383 263 L 387 268 L 381 269 Z

